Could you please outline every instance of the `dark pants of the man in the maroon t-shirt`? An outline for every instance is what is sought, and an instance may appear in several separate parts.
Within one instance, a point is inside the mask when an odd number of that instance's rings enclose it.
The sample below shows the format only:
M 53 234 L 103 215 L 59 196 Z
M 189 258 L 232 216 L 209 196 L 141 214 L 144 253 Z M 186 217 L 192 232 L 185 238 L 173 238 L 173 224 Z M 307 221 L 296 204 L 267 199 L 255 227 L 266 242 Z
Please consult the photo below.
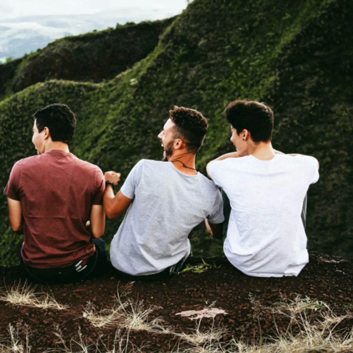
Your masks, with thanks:
M 26 265 L 20 253 L 20 266 L 25 276 L 33 282 L 72 283 L 98 276 L 107 270 L 107 250 L 103 239 L 92 239 L 95 253 L 87 259 L 78 259 L 72 265 L 60 268 L 34 268 Z

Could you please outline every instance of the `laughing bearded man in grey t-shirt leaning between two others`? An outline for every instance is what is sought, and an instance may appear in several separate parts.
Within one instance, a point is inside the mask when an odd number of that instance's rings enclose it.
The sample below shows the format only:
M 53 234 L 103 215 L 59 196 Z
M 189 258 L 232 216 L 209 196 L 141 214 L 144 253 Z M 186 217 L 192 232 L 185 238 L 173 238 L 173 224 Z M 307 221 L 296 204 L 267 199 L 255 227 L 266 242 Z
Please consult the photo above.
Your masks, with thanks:
M 174 107 L 158 135 L 166 161 L 141 160 L 114 196 L 120 174 L 107 172 L 104 210 L 108 218 L 128 208 L 110 246 L 113 266 L 139 278 L 168 275 L 190 255 L 188 235 L 205 219 L 221 237 L 222 197 L 195 169 L 195 156 L 207 132 L 197 110 Z

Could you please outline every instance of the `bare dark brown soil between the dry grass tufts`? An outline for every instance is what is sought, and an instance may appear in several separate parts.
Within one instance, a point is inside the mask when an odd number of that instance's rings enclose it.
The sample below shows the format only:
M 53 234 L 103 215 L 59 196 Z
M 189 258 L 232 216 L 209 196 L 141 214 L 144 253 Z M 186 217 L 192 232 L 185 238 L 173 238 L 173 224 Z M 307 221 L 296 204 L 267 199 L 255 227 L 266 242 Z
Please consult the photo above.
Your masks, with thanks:
M 201 310 L 215 303 L 215 307 L 223 309 L 227 315 L 217 315 L 215 319 L 203 318 L 201 330 L 214 325 L 215 328 L 225 328 L 222 341 L 232 337 L 245 342 L 258 342 L 260 327 L 262 340 L 275 335 L 275 323 L 286 328 L 288 320 L 273 317 L 266 307 L 283 301 L 283 297 L 293 299 L 297 295 L 317 299 L 330 305 L 338 315 L 353 311 L 353 258 L 330 258 L 318 253 L 311 253 L 310 263 L 298 277 L 256 278 L 246 276 L 232 267 L 225 258 L 206 261 L 210 268 L 202 273 L 186 271 L 174 277 L 157 282 L 130 282 L 116 276 L 113 270 L 97 279 L 86 282 L 42 286 L 45 292 L 53 293 L 55 299 L 68 306 L 68 310 L 40 310 L 25 306 L 13 306 L 0 301 L 0 338 L 8 336 L 8 325 L 20 324 L 29 328 L 31 352 L 43 352 L 48 348 L 60 347 L 55 336 L 55 325 L 58 324 L 62 337 L 67 344 L 72 339 L 79 340 L 78 330 L 88 343 L 95 343 L 101 337 L 98 346 L 110 346 L 114 339 L 117 326 L 95 328 L 83 318 L 83 308 L 87 302 L 96 308 L 104 309 L 113 306 L 114 296 L 119 287 L 119 293 L 131 286 L 126 297 L 136 301 L 143 300 L 145 308 L 155 307 L 149 320 L 162 317 L 168 327 L 175 332 L 192 333 L 196 322 L 180 315 L 186 310 Z M 200 264 L 201 259 L 192 259 L 192 265 Z M 0 268 L 0 287 L 13 283 L 24 282 L 19 268 Z M 40 286 L 37 291 L 40 292 Z M 262 306 L 262 309 L 258 308 Z M 353 319 L 348 318 L 341 323 L 341 332 L 348 332 L 353 325 Z M 126 330 L 121 331 L 126 334 Z M 20 330 L 20 338 L 25 339 Z M 190 347 L 180 341 L 178 336 L 158 332 L 131 331 L 129 340 L 136 347 L 143 347 L 143 352 L 171 351 L 178 344 Z

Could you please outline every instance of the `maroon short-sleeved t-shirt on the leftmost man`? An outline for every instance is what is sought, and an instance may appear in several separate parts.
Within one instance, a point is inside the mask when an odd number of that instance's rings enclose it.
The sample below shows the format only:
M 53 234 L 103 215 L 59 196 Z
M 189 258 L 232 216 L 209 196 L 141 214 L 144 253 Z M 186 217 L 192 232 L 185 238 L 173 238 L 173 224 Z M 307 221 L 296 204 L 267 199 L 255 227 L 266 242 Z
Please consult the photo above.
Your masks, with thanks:
M 104 189 L 101 169 L 71 153 L 50 150 L 18 161 L 4 193 L 21 202 L 25 264 L 65 267 L 91 256 L 95 246 L 85 225 Z

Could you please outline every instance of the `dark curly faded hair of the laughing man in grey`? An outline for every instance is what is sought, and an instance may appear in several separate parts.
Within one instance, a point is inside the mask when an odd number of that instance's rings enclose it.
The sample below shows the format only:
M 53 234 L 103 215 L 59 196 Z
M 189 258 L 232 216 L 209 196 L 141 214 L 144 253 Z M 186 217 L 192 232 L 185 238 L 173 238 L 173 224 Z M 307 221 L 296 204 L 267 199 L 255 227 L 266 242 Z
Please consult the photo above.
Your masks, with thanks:
M 169 117 L 175 124 L 174 138 L 181 138 L 189 152 L 196 153 L 203 144 L 208 130 L 207 119 L 197 110 L 174 106 Z

